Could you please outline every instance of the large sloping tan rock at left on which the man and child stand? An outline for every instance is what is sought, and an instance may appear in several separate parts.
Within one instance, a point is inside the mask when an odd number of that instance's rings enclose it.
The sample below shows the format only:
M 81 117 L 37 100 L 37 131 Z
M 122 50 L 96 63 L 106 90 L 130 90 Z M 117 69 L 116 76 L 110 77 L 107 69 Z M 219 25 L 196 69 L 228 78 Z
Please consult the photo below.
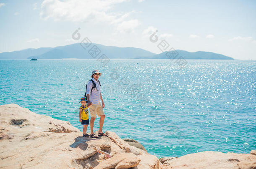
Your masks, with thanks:
M 97 134 L 97 132 L 96 132 Z M 144 152 L 130 146 L 115 133 L 110 138 L 84 138 L 68 121 L 35 114 L 16 104 L 0 106 L 0 167 L 3 169 L 91 169 L 105 160 L 101 149 L 113 156 L 127 151 Z

